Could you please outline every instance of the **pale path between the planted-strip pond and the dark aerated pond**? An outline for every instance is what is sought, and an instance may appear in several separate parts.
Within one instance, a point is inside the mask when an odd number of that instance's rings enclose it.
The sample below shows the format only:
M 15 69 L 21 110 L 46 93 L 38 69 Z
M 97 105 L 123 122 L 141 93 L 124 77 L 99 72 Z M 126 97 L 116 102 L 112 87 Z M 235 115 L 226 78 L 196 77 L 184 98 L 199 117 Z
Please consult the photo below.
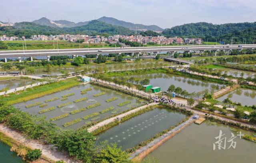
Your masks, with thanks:
M 132 109 L 132 110 L 130 110 L 130 111 L 127 111 L 127 112 L 125 112 L 125 113 L 122 113 L 122 114 L 120 114 L 120 115 L 116 115 L 115 117 L 106 119 L 106 120 L 104 120 L 104 121 L 102 121 L 102 122 L 99 122 L 99 123 L 97 123 L 96 125 L 93 125 L 92 127 L 90 127 L 90 128 L 88 129 L 88 132 L 92 132 L 92 131 L 98 129 L 99 127 L 102 127 L 102 126 L 104 126 L 104 125 L 107 125 L 108 123 L 111 123 L 111 122 L 114 122 L 115 120 L 118 120 L 119 118 L 125 117 L 126 115 L 130 115 L 130 114 L 132 114 L 132 113 L 134 113 L 134 112 L 136 112 L 136 111 L 139 111 L 139 110 L 144 109 L 144 108 L 146 108 L 146 107 L 154 106 L 154 105 L 157 105 L 157 104 L 158 104 L 158 103 L 149 103 L 148 105 L 143 105 L 143 106 L 137 107 L 137 108 L 135 108 L 135 109 Z

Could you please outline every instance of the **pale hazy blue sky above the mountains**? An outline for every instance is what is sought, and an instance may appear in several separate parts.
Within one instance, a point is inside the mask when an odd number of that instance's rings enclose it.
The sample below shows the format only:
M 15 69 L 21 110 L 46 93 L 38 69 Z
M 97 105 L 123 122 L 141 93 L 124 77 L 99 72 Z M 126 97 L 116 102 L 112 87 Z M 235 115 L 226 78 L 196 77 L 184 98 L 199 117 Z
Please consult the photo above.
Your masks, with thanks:
M 255 0 L 2 0 L 0 21 L 84 22 L 102 16 L 170 28 L 192 22 L 255 22 Z

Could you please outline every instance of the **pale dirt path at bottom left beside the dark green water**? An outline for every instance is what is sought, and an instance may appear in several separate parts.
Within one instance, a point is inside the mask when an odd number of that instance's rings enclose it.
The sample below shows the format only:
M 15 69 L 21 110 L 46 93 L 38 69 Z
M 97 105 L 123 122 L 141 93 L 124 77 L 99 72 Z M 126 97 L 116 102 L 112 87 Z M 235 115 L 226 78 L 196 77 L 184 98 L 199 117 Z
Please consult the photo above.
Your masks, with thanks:
M 79 161 L 70 159 L 67 153 L 58 152 L 52 145 L 45 145 L 34 139 L 27 139 L 24 135 L 6 127 L 4 124 L 0 124 L 0 132 L 31 149 L 40 149 L 42 155 L 53 161 L 63 160 L 66 163 L 79 163 Z

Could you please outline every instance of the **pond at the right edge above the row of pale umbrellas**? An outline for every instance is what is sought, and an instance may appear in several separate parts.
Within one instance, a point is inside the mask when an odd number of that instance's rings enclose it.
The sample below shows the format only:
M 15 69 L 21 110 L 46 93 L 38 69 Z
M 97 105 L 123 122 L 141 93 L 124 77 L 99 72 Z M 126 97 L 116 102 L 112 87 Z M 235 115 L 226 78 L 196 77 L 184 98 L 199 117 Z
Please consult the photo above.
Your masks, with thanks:
M 222 97 L 219 97 L 217 100 L 223 101 L 226 98 L 229 98 L 233 102 L 239 102 L 242 105 L 256 105 L 256 90 L 238 88 L 230 93 L 223 95 Z

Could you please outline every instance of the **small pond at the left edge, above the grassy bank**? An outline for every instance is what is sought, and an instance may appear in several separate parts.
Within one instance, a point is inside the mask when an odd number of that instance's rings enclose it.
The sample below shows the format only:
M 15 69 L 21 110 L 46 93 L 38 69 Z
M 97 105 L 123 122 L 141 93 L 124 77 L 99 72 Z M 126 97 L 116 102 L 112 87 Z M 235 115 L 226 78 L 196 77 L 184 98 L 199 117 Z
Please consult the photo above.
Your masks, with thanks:
M 22 87 L 24 85 L 30 85 L 38 83 L 36 80 L 32 79 L 14 79 L 9 81 L 0 81 L 0 90 L 8 87 L 9 89 L 14 89 L 16 87 Z

